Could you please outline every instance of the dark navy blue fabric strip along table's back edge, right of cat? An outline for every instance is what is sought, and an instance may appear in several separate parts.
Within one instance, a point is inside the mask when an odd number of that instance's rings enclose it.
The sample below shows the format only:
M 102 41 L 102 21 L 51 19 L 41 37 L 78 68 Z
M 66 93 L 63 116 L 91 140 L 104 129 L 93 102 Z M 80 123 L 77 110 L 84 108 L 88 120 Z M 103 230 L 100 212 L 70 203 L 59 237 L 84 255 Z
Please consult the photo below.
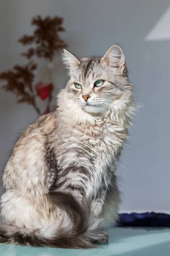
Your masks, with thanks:
M 116 227 L 170 227 L 170 215 L 165 213 L 123 213 Z

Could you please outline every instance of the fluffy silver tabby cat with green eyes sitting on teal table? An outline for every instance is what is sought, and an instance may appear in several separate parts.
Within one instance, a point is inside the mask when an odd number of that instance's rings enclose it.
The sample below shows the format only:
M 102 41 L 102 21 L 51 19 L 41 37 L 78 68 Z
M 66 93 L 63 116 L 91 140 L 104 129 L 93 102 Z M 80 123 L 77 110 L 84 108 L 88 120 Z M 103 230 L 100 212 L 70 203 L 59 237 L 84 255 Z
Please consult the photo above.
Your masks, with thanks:
M 3 172 L 0 242 L 91 248 L 118 218 L 116 164 L 134 108 L 125 56 L 78 58 L 64 49 L 69 80 L 57 109 L 20 135 Z

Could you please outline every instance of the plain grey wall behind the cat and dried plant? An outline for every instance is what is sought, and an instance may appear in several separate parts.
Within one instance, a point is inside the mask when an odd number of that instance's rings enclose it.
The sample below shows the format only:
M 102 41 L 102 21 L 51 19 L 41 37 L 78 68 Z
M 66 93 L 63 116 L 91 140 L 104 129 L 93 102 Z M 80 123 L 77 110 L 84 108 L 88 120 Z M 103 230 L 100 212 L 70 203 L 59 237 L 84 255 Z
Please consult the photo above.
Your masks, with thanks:
M 119 163 L 121 212 L 170 212 L 170 41 L 144 41 L 169 6 L 169 0 L 0 0 L 0 72 L 24 63 L 17 39 L 31 33 L 37 14 L 64 17 L 62 38 L 80 57 L 122 46 L 143 107 Z M 67 80 L 57 63 L 56 93 Z M 31 106 L 16 105 L 13 94 L 0 90 L 1 170 L 20 131 L 36 118 Z

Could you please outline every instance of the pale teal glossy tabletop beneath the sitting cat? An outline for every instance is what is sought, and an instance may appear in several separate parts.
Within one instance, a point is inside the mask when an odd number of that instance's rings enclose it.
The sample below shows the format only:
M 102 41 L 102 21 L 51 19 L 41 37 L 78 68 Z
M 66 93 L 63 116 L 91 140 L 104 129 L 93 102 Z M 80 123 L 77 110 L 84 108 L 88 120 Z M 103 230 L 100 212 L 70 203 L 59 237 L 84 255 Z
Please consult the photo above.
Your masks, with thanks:
M 170 229 L 112 228 L 109 244 L 96 249 L 60 249 L 0 244 L 0 256 L 170 256 Z

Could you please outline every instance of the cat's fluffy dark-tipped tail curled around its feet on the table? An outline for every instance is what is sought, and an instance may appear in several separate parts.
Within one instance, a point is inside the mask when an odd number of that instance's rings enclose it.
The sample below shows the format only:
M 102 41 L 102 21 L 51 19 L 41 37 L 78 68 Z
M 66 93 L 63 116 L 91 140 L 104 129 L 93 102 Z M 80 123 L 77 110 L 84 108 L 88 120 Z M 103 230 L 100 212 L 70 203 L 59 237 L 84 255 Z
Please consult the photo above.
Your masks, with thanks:
M 0 242 L 35 247 L 93 248 L 95 242 L 107 241 L 107 234 L 99 229 L 100 220 L 91 218 L 88 204 L 82 207 L 72 195 L 63 192 L 50 192 L 48 198 L 62 210 L 61 219 L 33 230 L 0 226 Z

